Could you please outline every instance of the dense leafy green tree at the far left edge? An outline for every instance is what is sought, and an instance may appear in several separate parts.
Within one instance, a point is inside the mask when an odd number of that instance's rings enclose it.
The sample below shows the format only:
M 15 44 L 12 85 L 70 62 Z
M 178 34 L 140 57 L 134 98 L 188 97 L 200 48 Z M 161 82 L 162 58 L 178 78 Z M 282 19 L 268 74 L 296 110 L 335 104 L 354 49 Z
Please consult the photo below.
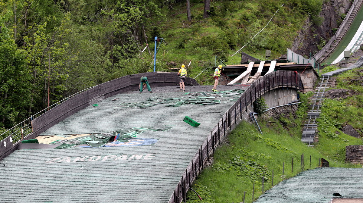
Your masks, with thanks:
M 17 48 L 13 33 L 5 22 L 12 11 L 0 17 L 0 128 L 10 128 L 26 117 L 30 100 L 31 75 L 25 53 Z

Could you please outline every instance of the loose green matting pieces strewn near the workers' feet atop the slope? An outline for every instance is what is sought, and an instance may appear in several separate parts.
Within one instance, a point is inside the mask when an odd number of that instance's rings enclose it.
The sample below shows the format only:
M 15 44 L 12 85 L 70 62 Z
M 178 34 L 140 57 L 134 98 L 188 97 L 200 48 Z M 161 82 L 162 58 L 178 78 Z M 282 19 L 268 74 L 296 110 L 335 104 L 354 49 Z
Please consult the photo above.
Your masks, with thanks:
M 245 90 L 226 90 L 220 92 L 187 92 L 183 95 L 188 97 L 182 96 L 179 98 L 164 98 L 164 99 L 155 96 L 153 98 L 148 98 L 144 101 L 137 103 L 122 102 L 120 104 L 120 107 L 114 107 L 114 108 L 130 108 L 130 107 L 147 108 L 157 104 L 165 104 L 164 106 L 166 107 L 180 107 L 187 104 L 214 105 L 227 102 L 236 102 L 244 91 Z M 233 97 L 233 99 L 221 102 L 221 100 L 218 99 L 219 97 Z

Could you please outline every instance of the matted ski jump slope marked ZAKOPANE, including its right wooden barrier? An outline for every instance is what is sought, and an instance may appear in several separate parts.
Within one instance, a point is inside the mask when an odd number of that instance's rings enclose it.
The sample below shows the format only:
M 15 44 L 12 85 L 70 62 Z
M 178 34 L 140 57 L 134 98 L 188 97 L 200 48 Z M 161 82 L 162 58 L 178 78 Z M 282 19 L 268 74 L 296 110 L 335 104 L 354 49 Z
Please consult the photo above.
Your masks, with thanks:
M 208 92 L 211 88 L 188 86 L 187 91 Z M 107 133 L 143 126 L 172 129 L 145 131 L 126 146 L 16 150 L 0 164 L 0 202 L 181 202 L 227 129 L 233 129 L 242 116 L 248 117 L 250 104 L 258 96 L 276 88 L 295 91 L 303 87 L 298 74 L 277 71 L 251 86 L 219 86 L 220 91 L 247 89 L 248 94 L 245 92 L 237 102 L 221 96 L 221 103 L 215 105 L 117 108 L 122 102 L 141 102 L 155 96 L 188 97 L 175 92 L 178 86 L 102 99 L 98 106 L 83 108 L 41 135 Z M 242 115 L 245 110 L 247 116 Z M 186 124 L 185 116 L 200 125 Z

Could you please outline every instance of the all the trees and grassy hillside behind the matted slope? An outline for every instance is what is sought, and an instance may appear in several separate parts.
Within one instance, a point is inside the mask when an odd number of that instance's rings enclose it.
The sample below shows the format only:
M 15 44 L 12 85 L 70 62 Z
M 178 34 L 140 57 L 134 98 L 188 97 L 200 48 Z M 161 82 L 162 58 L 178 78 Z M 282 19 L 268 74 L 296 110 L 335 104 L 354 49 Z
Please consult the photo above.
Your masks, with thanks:
M 153 71 L 155 36 L 164 39 L 156 70 L 175 71 L 191 60 L 190 77 L 214 66 L 215 56 L 238 64 L 240 56 L 231 55 L 245 44 L 242 51 L 254 57 L 263 59 L 265 49 L 279 57 L 306 18 L 319 22 L 322 0 L 185 3 L 0 0 L 0 129 L 85 88 Z M 210 75 L 196 79 L 210 84 Z

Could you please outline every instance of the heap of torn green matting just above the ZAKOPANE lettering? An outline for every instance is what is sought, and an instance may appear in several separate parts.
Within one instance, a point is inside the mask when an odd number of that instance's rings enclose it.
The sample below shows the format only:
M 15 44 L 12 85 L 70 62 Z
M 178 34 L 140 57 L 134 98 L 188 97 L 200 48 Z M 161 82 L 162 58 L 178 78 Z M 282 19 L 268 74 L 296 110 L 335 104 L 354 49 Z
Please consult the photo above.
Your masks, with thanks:
M 61 144 L 56 148 L 70 148 L 70 147 L 103 147 L 107 143 L 118 142 L 128 142 L 131 138 L 137 137 L 144 131 L 167 131 L 173 127 L 165 128 L 152 128 L 152 127 L 134 127 L 129 129 L 115 130 L 110 133 L 100 133 L 85 135 L 82 137 L 77 137 L 74 139 L 62 139 L 54 141 L 50 144 Z M 62 136 L 65 137 L 65 136 Z M 68 136 L 69 137 L 69 136 Z

